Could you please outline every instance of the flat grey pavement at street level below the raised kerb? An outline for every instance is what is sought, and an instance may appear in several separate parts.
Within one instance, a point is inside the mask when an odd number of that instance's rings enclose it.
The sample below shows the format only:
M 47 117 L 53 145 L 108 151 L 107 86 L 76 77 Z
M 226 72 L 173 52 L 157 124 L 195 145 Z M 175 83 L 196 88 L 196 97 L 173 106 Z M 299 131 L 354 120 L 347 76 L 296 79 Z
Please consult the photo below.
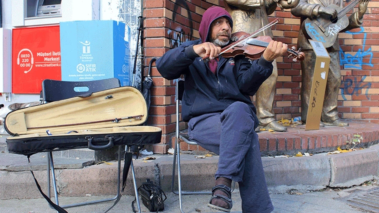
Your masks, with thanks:
M 376 188 L 373 188 L 376 187 Z M 362 213 L 371 212 L 363 206 L 351 207 L 347 200 L 354 199 L 354 196 L 366 193 L 370 190 L 379 190 L 378 186 L 355 186 L 343 190 L 323 190 L 309 193 L 297 194 L 271 194 L 274 205 L 273 213 Z M 60 204 L 66 205 L 73 202 L 84 202 L 95 199 L 109 198 L 111 196 L 85 196 L 85 197 L 60 197 Z M 167 193 L 167 200 L 164 201 L 164 211 L 166 213 L 180 213 L 179 196 Z M 210 195 L 185 195 L 183 196 L 183 210 L 187 213 L 214 212 L 207 208 Z M 241 199 L 238 190 L 233 192 L 233 211 L 241 210 Z M 119 203 L 109 211 L 109 213 L 132 213 L 132 201 L 134 196 L 122 196 Z M 101 213 L 111 207 L 113 202 L 87 205 L 82 207 L 66 208 L 69 213 Z M 38 199 L 9 199 L 0 200 L 1 213 L 54 213 L 43 198 Z M 141 212 L 149 212 L 141 203 Z M 378 211 L 372 211 L 378 212 Z

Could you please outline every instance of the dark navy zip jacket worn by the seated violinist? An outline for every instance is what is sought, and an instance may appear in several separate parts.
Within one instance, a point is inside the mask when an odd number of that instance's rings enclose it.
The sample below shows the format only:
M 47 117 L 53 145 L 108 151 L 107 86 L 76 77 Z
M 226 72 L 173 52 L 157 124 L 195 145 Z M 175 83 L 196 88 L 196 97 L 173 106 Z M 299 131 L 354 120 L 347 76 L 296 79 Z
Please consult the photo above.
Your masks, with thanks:
M 208 63 L 200 61 L 201 58 L 193 51 L 192 45 L 200 43 L 200 39 L 183 42 L 155 62 L 163 78 L 173 80 L 184 74 L 183 121 L 205 113 L 222 112 L 236 101 L 247 103 L 256 113 L 249 96 L 253 96 L 272 74 L 272 63 L 263 57 L 250 60 L 244 56 L 220 56 L 215 75 Z M 258 119 L 254 117 L 257 127 Z

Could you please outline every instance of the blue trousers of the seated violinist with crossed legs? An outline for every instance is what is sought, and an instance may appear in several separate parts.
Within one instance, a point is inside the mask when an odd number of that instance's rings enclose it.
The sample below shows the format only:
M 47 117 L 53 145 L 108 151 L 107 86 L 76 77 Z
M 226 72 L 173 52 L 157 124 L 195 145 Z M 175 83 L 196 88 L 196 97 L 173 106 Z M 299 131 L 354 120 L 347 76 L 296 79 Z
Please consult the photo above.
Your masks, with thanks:
M 234 102 L 222 113 L 197 116 L 188 122 L 190 139 L 219 155 L 215 177 L 238 182 L 243 213 L 274 210 L 268 194 L 254 112 L 243 102 Z

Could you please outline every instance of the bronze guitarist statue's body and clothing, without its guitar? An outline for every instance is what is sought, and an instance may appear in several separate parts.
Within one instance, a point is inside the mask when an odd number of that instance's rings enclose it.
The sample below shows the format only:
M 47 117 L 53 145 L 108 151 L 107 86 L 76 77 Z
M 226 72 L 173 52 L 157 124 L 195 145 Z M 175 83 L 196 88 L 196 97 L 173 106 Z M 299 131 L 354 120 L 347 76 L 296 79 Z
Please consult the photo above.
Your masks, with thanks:
M 301 17 L 302 23 L 307 18 L 310 20 L 315 20 L 319 17 L 334 19 L 337 17 L 338 11 L 334 9 L 333 5 L 342 9 L 345 6 L 345 3 L 343 0 L 300 0 L 298 6 L 291 9 L 291 13 L 294 16 Z M 361 27 L 367 5 L 368 0 L 360 1 L 358 10 L 352 13 L 347 19 L 347 27 L 338 31 L 345 32 Z M 301 48 L 302 52 L 305 54 L 304 61 L 301 61 L 301 120 L 306 122 L 316 55 L 308 41 L 309 36 L 304 32 L 304 25 L 302 25 L 302 27 L 303 29 L 301 28 L 299 30 L 298 36 L 298 48 Z M 337 110 L 338 91 L 341 86 L 338 31 L 336 32 L 337 36 L 334 37 L 334 41 L 326 41 L 331 44 L 330 47 L 326 48 L 330 56 L 330 65 L 320 126 L 332 125 L 345 127 L 349 125 L 348 122 L 339 119 Z M 324 37 L 327 40 L 332 39 L 333 36 L 329 35 Z

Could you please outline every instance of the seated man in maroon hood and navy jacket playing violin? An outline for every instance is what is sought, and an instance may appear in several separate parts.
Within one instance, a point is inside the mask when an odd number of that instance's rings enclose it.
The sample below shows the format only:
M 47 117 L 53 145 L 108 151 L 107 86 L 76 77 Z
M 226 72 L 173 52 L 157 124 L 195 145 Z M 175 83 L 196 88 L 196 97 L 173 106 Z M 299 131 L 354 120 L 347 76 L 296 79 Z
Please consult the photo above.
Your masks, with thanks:
M 244 55 L 218 56 L 230 42 L 233 22 L 223 8 L 212 6 L 202 17 L 200 39 L 183 42 L 156 61 L 160 74 L 173 80 L 184 75 L 182 118 L 190 139 L 219 155 L 215 187 L 208 207 L 232 208 L 231 182 L 238 182 L 244 213 L 269 213 L 268 194 L 258 135 L 256 110 L 250 96 L 273 72 L 272 61 L 287 51 L 270 41 L 259 60 Z M 211 61 L 204 63 L 202 58 Z

